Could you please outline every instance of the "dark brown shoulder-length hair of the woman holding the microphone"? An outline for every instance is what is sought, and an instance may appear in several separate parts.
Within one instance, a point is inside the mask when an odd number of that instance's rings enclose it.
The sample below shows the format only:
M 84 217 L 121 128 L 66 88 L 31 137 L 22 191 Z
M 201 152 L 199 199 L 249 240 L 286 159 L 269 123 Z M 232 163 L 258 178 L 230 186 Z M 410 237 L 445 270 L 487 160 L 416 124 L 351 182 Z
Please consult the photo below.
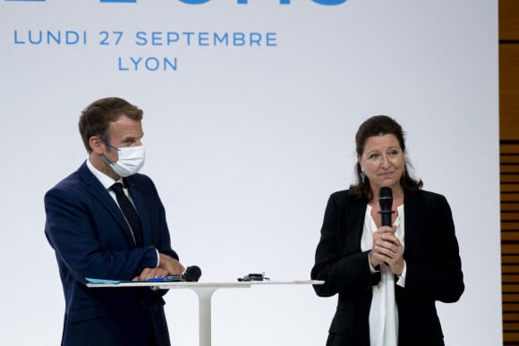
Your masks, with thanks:
M 402 130 L 402 126 L 387 115 L 375 115 L 365 122 L 362 122 L 357 134 L 355 135 L 357 157 L 361 157 L 364 153 L 366 140 L 373 136 L 383 136 L 387 134 L 394 135 L 400 144 L 400 148 L 404 151 L 404 174 L 402 174 L 402 177 L 400 178 L 402 187 L 407 191 L 421 189 L 423 181 L 417 181 L 409 175 L 412 165 L 410 164 L 407 152 L 405 151 L 404 131 Z M 355 165 L 355 173 L 359 182 L 350 186 L 350 192 L 353 198 L 362 198 L 370 201 L 373 198 L 370 180 L 366 176 L 364 181 L 362 181 L 361 172 L 361 165 L 357 161 L 357 164 Z

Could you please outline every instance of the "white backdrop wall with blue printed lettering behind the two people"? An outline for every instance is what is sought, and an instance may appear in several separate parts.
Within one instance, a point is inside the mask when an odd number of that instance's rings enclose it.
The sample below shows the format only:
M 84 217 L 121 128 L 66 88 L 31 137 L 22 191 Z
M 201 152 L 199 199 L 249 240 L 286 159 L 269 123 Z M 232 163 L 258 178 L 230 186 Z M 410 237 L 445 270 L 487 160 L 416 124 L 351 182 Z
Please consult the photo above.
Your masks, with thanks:
M 502 344 L 497 1 L 249 3 L 0 1 L 2 344 L 60 341 L 43 195 L 86 158 L 79 114 L 107 96 L 145 111 L 143 173 L 174 249 L 208 282 L 308 279 L 328 195 L 353 181 L 355 131 L 395 117 L 424 188 L 454 211 L 466 290 L 438 303 L 447 345 Z M 29 30 L 87 44 L 31 45 Z M 122 31 L 119 45 L 99 45 L 102 30 Z M 268 31 L 277 46 L 137 46 L 139 30 Z M 139 56 L 177 70 L 119 71 Z M 195 294 L 166 301 L 174 345 L 197 344 Z M 335 305 L 307 286 L 217 291 L 213 345 L 322 345 Z

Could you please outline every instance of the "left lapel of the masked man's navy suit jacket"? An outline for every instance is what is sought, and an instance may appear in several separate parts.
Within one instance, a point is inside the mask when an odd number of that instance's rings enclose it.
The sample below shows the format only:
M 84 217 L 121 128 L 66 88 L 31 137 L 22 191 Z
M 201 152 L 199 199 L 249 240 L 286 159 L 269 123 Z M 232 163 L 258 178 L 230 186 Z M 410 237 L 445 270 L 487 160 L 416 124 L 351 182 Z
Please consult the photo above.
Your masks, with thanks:
M 133 241 L 132 231 L 130 230 L 130 226 L 128 226 L 128 223 L 126 222 L 126 219 L 124 219 L 121 209 L 117 207 L 114 198 L 110 196 L 105 187 L 98 181 L 98 178 L 96 178 L 94 174 L 90 172 L 89 167 L 87 167 L 86 163 L 81 165 L 80 169 L 78 170 L 78 173 L 80 174 L 81 180 L 84 181 L 85 184 L 89 187 L 89 193 L 91 193 L 94 196 L 94 198 L 97 198 L 98 201 L 103 205 L 103 207 L 106 207 L 106 209 L 110 211 L 110 214 L 114 216 L 117 223 L 121 225 L 124 237 L 126 238 L 128 243 L 134 248 L 135 242 Z

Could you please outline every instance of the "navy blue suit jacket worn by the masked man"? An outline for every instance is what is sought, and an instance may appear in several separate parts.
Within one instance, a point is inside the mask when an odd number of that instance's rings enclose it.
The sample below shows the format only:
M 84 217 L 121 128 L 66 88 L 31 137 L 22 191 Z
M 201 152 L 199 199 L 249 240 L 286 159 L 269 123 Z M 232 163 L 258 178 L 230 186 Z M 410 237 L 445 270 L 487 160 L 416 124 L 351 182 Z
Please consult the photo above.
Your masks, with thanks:
M 62 345 L 170 345 L 162 296 L 141 288 L 88 288 L 85 278 L 132 280 L 157 266 L 157 250 L 175 259 L 165 210 L 153 182 L 127 178 L 140 215 L 144 246 L 136 248 L 115 200 L 86 163 L 45 195 L 47 240 L 55 249 L 64 289 Z

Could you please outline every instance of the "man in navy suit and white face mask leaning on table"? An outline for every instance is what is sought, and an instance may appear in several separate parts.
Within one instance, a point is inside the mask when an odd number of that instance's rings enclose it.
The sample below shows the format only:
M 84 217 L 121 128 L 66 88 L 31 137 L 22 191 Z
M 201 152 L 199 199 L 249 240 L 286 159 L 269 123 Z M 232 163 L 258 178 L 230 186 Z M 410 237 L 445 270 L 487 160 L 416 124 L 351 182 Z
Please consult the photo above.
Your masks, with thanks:
M 45 232 L 64 288 L 64 346 L 170 345 L 166 291 L 85 285 L 183 273 L 155 185 L 137 173 L 145 156 L 141 119 L 121 98 L 90 104 L 80 117 L 88 160 L 45 196 Z

